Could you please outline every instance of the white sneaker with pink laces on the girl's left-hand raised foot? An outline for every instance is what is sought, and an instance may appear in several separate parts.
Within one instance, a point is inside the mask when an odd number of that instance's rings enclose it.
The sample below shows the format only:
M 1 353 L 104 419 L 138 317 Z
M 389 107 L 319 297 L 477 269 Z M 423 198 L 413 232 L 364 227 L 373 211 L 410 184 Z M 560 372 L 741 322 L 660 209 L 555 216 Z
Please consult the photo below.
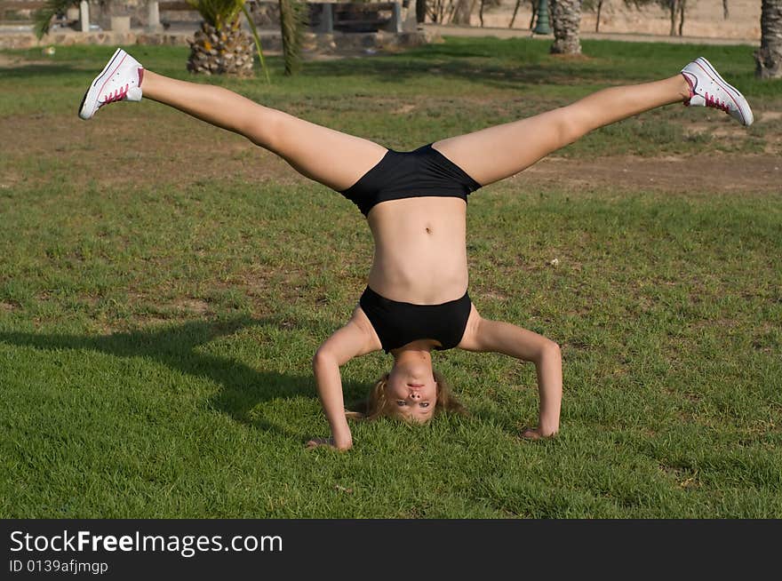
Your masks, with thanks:
M 79 116 L 89 119 L 95 112 L 115 101 L 140 101 L 144 68 L 122 49 L 116 49 L 106 67 L 92 81 L 79 106 Z

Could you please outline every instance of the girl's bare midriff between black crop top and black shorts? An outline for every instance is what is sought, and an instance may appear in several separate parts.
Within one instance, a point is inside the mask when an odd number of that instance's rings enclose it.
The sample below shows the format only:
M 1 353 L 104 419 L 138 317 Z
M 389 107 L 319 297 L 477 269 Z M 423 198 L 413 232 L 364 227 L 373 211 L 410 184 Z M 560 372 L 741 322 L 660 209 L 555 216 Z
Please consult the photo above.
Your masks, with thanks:
M 376 205 L 368 221 L 375 240 L 372 290 L 391 300 L 439 305 L 467 291 L 467 203 L 417 197 Z

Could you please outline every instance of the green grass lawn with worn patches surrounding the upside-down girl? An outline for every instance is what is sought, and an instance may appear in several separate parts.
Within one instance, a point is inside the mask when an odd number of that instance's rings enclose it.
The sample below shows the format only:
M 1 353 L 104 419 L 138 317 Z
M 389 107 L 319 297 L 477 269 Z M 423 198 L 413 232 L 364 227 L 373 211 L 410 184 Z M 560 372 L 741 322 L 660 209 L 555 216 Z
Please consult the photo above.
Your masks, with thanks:
M 271 86 L 203 82 L 399 148 L 672 74 L 695 52 L 756 112 L 782 107 L 782 85 L 753 80 L 751 47 L 584 47 L 558 60 L 537 40 L 447 39 Z M 328 429 L 312 354 L 371 262 L 363 218 L 155 103 L 79 122 L 108 53 L 7 52 L 29 62 L 0 71 L 0 516 L 782 515 L 782 188 L 484 188 L 468 212 L 470 293 L 484 316 L 563 346 L 561 434 L 517 437 L 537 414 L 531 366 L 450 351 L 435 362 L 471 418 L 356 424 L 354 450 L 305 450 Z M 187 49 L 133 53 L 188 78 Z M 777 147 L 778 121 L 726 147 L 682 133 L 691 118 L 667 107 L 562 155 Z M 348 363 L 347 400 L 388 362 Z

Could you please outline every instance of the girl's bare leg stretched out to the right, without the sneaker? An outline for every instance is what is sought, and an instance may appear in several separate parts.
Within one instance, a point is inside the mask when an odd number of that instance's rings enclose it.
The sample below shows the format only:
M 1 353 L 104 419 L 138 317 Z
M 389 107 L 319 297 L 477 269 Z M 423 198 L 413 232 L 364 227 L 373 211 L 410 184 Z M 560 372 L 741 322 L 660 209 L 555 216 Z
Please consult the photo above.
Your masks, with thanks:
M 611 87 L 567 107 L 437 141 L 433 147 L 482 186 L 508 178 L 589 131 L 690 98 L 684 76 Z

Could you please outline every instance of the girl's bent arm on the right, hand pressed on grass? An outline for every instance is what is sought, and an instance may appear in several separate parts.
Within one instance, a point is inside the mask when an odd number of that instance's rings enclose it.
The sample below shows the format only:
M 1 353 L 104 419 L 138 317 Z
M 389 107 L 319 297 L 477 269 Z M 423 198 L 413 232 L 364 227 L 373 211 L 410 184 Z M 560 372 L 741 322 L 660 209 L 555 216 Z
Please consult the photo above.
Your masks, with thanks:
M 494 352 L 535 363 L 538 373 L 539 422 L 523 436 L 548 437 L 559 430 L 562 408 L 562 354 L 552 340 L 509 322 L 489 321 L 475 310 L 467 321 L 467 330 L 459 347 L 478 353 Z

